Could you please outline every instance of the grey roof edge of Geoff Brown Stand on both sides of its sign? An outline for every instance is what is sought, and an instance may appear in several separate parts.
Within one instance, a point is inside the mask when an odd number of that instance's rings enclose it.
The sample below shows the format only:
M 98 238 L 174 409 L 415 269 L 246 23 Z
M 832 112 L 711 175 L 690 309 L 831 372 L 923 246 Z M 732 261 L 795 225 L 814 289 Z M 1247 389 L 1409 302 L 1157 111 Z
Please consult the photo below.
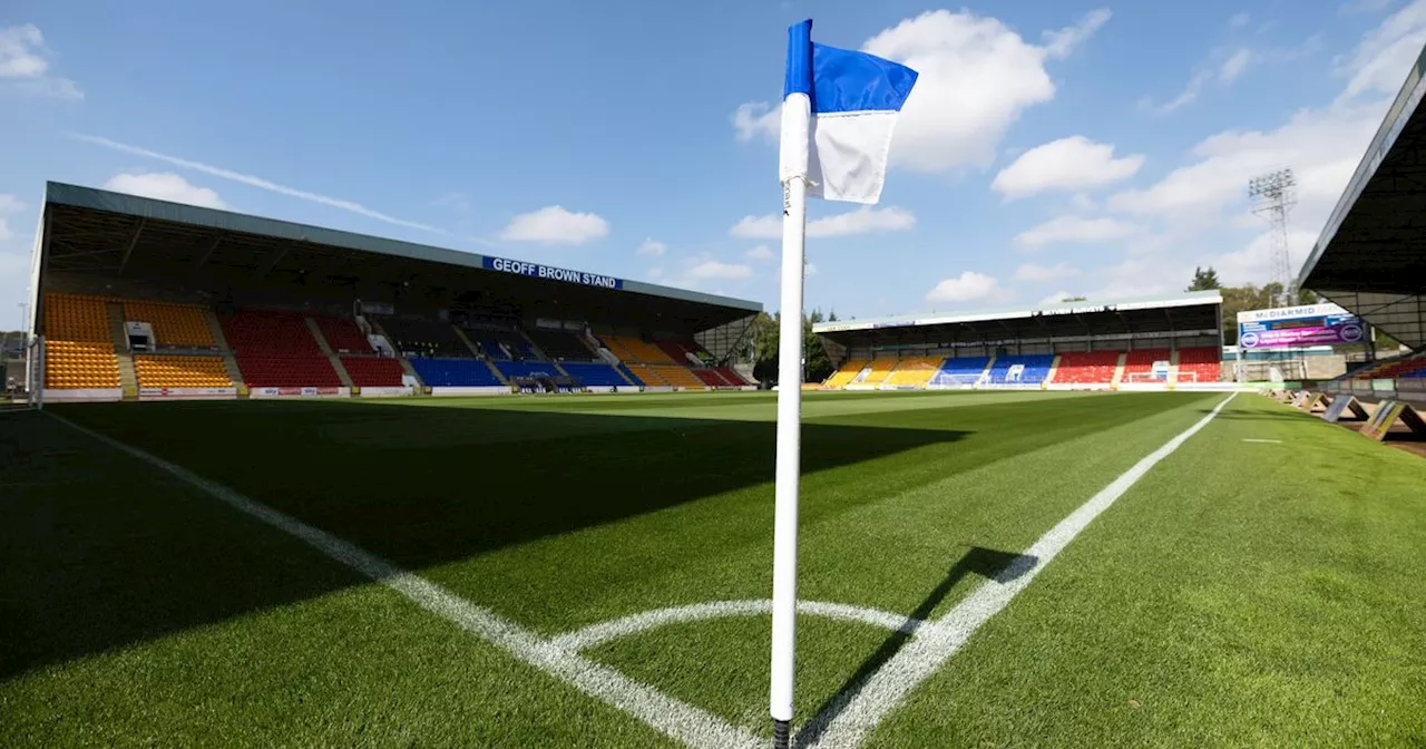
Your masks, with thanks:
M 468 268 L 483 268 L 486 257 L 478 253 L 466 253 L 462 250 L 449 250 L 445 247 L 434 247 L 429 244 L 408 243 L 402 240 L 391 240 L 386 237 L 374 237 L 371 234 L 356 234 L 354 231 L 314 227 L 308 224 L 298 224 L 294 221 L 281 221 L 277 218 L 264 218 L 260 215 L 248 215 L 234 211 L 202 208 L 198 205 L 170 203 L 165 200 L 145 198 L 124 193 L 111 193 L 108 190 L 97 190 L 93 187 L 81 187 L 66 183 L 54 183 L 54 181 L 46 183 L 44 200 L 47 204 L 73 205 L 96 211 L 108 211 L 108 213 L 117 213 L 117 214 L 125 214 L 151 220 L 193 224 L 215 230 L 257 234 L 261 237 L 270 237 L 277 240 L 324 244 L 347 250 L 362 250 L 366 253 L 395 255 L 408 260 L 445 263 Z M 595 275 L 603 275 L 603 274 L 595 274 Z M 630 281 L 623 278 L 620 278 L 619 281 L 623 285 L 623 291 L 632 291 L 636 294 L 647 294 L 653 297 L 665 297 L 679 301 L 710 304 L 736 310 L 747 310 L 752 312 L 760 312 L 763 310 L 763 304 L 757 301 L 737 300 L 733 297 L 722 297 L 717 294 L 703 294 L 700 291 L 687 291 L 683 288 L 646 284 L 643 281 Z

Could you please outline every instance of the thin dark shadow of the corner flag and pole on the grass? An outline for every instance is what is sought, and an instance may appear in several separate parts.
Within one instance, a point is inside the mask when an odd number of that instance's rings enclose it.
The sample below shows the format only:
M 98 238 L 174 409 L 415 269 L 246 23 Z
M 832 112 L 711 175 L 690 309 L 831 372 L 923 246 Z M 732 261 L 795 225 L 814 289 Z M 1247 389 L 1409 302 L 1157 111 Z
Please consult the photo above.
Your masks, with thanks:
M 1024 554 L 1012 554 L 1007 551 L 985 549 L 981 546 L 973 546 L 964 556 L 961 556 L 951 569 L 945 574 L 935 588 L 915 606 L 915 611 L 908 613 L 910 619 L 925 619 L 935 611 L 935 606 L 941 605 L 945 595 L 951 592 L 953 588 L 964 578 L 970 575 L 978 575 L 985 579 L 998 579 L 1000 582 L 1010 582 L 1035 566 L 1037 559 Z M 807 748 L 817 743 L 821 735 L 826 733 L 827 728 L 831 726 L 833 720 L 837 719 L 843 710 L 851 705 L 851 700 L 858 692 L 867 685 L 867 681 L 876 675 L 896 653 L 901 652 L 901 648 L 915 635 L 915 632 L 893 632 L 881 642 L 877 649 L 867 656 L 866 661 L 857 666 L 857 671 L 847 678 L 843 685 L 833 692 L 826 702 L 817 706 L 813 713 L 811 720 L 801 729 L 797 735 L 797 746 Z

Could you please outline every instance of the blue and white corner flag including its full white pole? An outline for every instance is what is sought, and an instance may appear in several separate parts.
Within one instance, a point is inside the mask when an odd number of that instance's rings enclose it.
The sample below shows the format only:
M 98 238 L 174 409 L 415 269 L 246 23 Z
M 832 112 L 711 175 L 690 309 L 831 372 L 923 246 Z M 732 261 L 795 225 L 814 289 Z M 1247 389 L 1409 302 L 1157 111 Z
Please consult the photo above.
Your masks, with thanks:
M 891 130 L 915 71 L 811 41 L 811 20 L 787 30 L 787 83 L 779 180 L 783 183 L 783 311 L 777 357 L 777 474 L 773 529 L 773 745 L 793 719 L 797 628 L 797 482 L 801 455 L 803 261 L 807 195 L 874 204 L 881 198 Z

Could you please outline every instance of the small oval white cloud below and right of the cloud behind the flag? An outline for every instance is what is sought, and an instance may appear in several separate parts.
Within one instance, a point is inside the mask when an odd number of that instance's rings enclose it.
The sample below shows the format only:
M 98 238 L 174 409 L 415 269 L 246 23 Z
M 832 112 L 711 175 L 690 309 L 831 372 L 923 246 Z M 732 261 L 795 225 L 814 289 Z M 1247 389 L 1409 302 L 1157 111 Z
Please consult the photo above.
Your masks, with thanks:
M 1141 154 L 1115 158 L 1114 146 L 1072 136 L 1022 153 L 995 175 L 991 190 L 1008 200 L 1045 190 L 1082 190 L 1127 180 L 1142 165 Z

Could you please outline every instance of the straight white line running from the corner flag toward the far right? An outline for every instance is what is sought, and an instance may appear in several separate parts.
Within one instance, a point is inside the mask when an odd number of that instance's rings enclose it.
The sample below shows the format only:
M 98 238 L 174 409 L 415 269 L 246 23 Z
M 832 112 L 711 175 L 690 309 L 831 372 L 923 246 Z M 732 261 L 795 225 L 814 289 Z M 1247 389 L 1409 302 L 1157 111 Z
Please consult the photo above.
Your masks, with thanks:
M 981 625 L 1024 591 L 1035 579 L 1035 575 L 1057 554 L 1064 551 L 1089 522 L 1108 509 L 1159 461 L 1172 455 L 1189 437 L 1206 427 L 1236 395 L 1235 392 L 1225 398 L 1206 417 L 1134 464 L 1124 475 L 1040 536 L 1040 541 L 1035 541 L 1020 558 L 1024 564 L 1032 565 L 1030 569 L 1024 569 L 1020 561 L 1011 564 L 995 579 L 985 581 L 985 585 L 977 588 L 950 613 L 924 628 L 921 636 L 901 648 L 863 682 L 860 689 L 853 688 L 838 695 L 823 715 L 809 720 L 807 726 L 799 732 L 799 746 L 806 746 L 809 740 L 814 742 L 811 743 L 814 748 L 846 749 L 860 745 L 871 729 L 906 699 L 906 695 L 920 686 L 927 676 L 935 673 Z

